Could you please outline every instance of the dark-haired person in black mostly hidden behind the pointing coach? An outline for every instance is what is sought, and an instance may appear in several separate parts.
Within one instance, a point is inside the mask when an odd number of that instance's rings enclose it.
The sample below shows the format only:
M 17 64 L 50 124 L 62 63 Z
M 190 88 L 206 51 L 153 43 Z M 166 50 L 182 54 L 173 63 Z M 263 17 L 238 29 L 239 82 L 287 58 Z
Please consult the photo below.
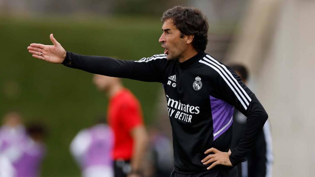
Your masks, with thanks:
M 245 66 L 231 65 L 230 67 L 246 84 L 248 71 Z M 233 114 L 232 148 L 236 147 L 241 140 L 245 125 L 246 117 L 240 111 L 235 110 Z M 271 177 L 273 161 L 271 143 L 270 126 L 269 121 L 267 121 L 258 135 L 254 148 L 247 155 L 247 161 L 237 165 L 239 177 Z

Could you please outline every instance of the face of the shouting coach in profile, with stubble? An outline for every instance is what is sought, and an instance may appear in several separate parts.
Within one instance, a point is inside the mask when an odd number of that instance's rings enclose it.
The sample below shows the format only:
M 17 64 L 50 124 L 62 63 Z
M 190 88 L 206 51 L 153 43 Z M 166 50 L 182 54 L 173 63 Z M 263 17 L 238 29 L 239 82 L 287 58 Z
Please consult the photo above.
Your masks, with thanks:
M 161 35 L 159 42 L 162 43 L 162 47 L 165 49 L 164 54 L 167 54 L 166 58 L 168 60 L 182 58 L 187 49 L 187 37 L 180 37 L 181 32 L 176 28 L 172 19 L 164 21 L 162 31 L 163 34 Z

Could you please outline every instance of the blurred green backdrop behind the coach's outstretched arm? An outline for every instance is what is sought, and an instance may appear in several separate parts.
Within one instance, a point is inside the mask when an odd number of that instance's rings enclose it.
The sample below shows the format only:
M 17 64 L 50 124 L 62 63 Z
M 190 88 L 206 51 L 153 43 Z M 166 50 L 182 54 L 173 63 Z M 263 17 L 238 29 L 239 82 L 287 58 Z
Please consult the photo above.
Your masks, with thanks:
M 43 177 L 80 176 L 69 144 L 96 116 L 106 115 L 107 99 L 92 84 L 92 74 L 32 58 L 27 46 L 51 45 L 49 34 L 54 33 L 68 51 L 139 60 L 163 53 L 158 43 L 161 26 L 159 18 L 0 17 L 0 115 L 14 109 L 26 123 L 40 121 L 48 127 Z M 129 79 L 123 83 L 139 98 L 145 122 L 150 123 L 156 92 L 162 85 Z

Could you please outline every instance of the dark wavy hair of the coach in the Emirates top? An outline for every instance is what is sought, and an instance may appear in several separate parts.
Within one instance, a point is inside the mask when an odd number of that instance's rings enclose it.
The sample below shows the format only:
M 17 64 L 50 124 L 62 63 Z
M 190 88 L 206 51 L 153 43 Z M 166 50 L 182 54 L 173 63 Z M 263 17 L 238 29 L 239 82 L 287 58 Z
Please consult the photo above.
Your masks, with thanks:
M 204 51 L 208 43 L 207 17 L 197 8 L 175 6 L 163 13 L 162 23 L 172 19 L 174 25 L 183 35 L 194 35 L 192 46 L 198 51 Z

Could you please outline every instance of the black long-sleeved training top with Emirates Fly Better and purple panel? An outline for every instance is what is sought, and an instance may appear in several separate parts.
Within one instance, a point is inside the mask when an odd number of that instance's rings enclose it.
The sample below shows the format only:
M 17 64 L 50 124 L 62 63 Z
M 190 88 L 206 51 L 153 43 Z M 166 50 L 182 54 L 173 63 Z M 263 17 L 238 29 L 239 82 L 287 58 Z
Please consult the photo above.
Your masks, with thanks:
M 131 61 L 67 52 L 62 64 L 110 77 L 162 83 L 173 132 L 174 169 L 179 173 L 205 171 L 209 165 L 201 160 L 211 147 L 230 149 L 234 107 L 248 119 L 242 140 L 231 149 L 233 166 L 245 161 L 268 117 L 240 77 L 203 52 L 182 63 L 167 60 L 166 54 Z M 213 170 L 224 168 L 218 165 Z

